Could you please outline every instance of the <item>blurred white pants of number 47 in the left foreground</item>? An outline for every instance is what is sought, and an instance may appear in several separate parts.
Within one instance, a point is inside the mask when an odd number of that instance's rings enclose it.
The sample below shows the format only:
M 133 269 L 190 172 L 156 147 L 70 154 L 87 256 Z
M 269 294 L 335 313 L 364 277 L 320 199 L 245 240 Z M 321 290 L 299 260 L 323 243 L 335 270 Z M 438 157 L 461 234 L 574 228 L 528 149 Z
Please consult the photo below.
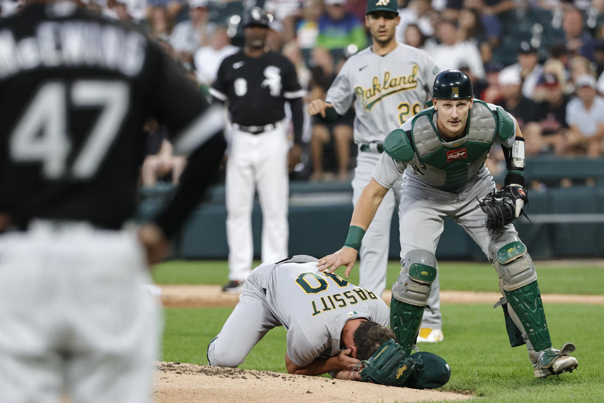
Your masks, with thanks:
M 0 402 L 150 401 L 159 309 L 134 231 L 0 235 Z

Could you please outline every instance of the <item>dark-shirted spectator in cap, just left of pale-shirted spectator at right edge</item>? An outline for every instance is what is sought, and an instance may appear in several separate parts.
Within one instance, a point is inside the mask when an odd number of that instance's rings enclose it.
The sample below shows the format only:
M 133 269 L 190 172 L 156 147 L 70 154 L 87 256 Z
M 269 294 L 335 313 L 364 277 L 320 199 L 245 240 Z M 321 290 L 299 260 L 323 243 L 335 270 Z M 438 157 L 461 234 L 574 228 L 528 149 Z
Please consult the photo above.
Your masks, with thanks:
M 530 146 L 532 152 L 553 152 L 556 155 L 564 155 L 564 136 L 568 130 L 566 121 L 566 109 L 570 97 L 564 94 L 561 78 L 553 73 L 544 73 L 539 78 L 535 89 L 536 98 L 539 99 L 536 109 L 536 120 L 539 123 L 539 134 L 530 140 L 534 144 Z M 524 134 L 524 131 L 522 132 Z M 529 143 L 529 140 L 526 140 Z

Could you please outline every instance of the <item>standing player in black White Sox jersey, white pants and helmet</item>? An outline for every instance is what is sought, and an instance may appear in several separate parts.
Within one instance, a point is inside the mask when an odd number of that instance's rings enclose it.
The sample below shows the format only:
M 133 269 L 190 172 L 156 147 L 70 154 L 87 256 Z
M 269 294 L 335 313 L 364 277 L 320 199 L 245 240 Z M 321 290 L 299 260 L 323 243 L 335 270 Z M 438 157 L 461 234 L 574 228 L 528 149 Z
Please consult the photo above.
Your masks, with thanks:
M 226 161 L 230 282 L 223 290 L 228 292 L 239 292 L 252 269 L 254 189 L 262 207 L 262 261 L 288 257 L 288 160 L 290 167 L 300 161 L 303 126 L 304 90 L 294 65 L 266 47 L 269 16 L 262 8 L 249 8 L 242 24 L 245 47 L 223 60 L 210 89 L 214 98 L 228 103 L 233 122 Z M 291 150 L 285 102 L 289 102 L 294 124 Z

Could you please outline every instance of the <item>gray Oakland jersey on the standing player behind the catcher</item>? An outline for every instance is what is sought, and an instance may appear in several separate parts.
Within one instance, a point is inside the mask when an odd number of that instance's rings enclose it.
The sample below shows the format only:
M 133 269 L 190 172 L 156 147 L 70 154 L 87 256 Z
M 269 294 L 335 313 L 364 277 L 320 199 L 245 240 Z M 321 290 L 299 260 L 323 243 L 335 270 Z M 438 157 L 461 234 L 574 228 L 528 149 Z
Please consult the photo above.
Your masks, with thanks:
M 398 44 L 379 56 L 368 47 L 344 63 L 326 101 L 340 115 L 355 103 L 355 143 L 381 142 L 423 109 L 438 73 L 423 50 Z

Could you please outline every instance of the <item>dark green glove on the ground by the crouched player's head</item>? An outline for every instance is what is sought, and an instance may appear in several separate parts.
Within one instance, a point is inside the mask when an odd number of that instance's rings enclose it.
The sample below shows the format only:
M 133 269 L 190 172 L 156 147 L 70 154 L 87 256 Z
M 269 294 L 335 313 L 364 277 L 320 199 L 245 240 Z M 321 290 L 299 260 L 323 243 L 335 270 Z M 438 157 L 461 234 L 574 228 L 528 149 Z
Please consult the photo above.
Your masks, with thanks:
M 405 382 L 422 364 L 421 358 L 405 356 L 400 344 L 390 339 L 371 355 L 361 361 L 361 379 L 381 385 L 405 386 Z

